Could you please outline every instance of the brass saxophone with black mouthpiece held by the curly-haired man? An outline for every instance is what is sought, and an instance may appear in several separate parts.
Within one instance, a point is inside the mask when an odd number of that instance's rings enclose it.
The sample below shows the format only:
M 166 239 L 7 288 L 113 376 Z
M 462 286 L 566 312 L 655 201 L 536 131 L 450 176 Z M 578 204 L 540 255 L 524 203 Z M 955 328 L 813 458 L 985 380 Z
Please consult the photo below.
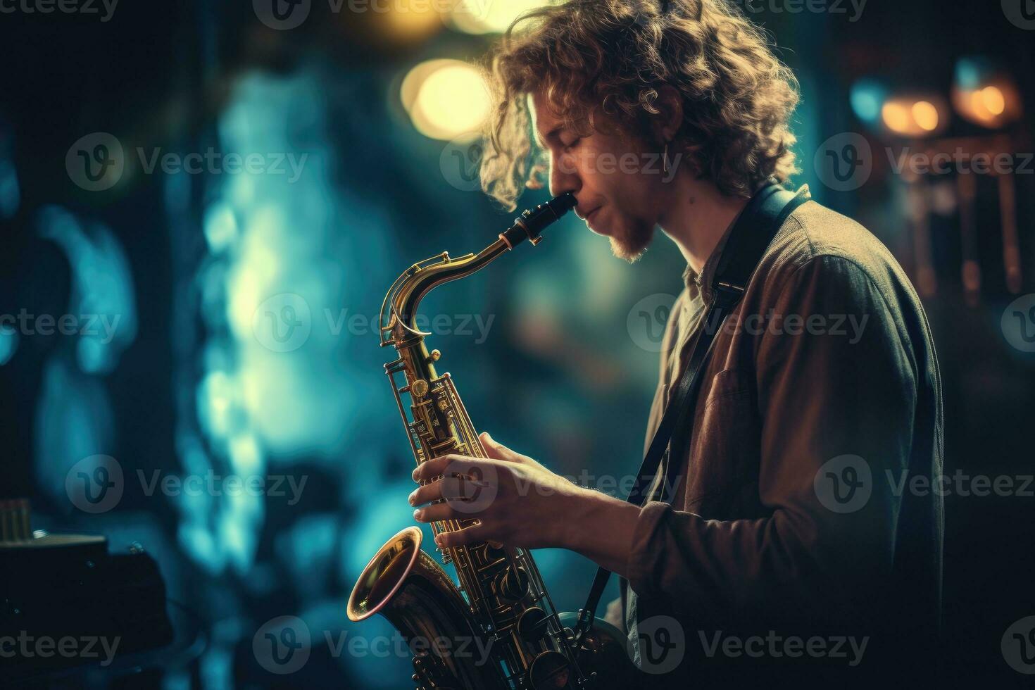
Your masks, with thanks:
M 393 346 L 398 358 L 385 364 L 385 373 L 418 464 L 447 453 L 487 457 L 451 377 L 436 371 L 441 353 L 427 351 L 424 336 L 431 334 L 414 327 L 420 300 L 526 239 L 538 244 L 539 233 L 575 203 L 568 192 L 525 210 L 477 254 L 436 254 L 411 266 L 388 290 L 381 306 L 381 346 Z M 433 522 L 432 530 L 436 535 L 460 530 L 473 519 Z M 580 627 L 575 614 L 557 612 L 527 549 L 494 542 L 445 549 L 443 562 L 455 566 L 457 587 L 421 550 L 421 539 L 417 527 L 389 539 L 359 575 L 348 604 L 353 622 L 380 613 L 395 626 L 414 654 L 412 680 L 418 687 L 629 687 L 624 635 L 599 619 L 587 634 L 573 634 Z

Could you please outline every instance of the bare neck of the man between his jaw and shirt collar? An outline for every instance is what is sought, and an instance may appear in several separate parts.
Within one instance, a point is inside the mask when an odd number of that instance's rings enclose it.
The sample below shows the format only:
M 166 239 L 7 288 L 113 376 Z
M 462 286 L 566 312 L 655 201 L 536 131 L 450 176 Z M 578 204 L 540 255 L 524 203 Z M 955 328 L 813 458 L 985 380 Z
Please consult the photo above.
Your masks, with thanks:
M 712 182 L 696 180 L 686 174 L 688 171 L 680 173 L 669 183 L 674 186 L 658 217 L 658 226 L 676 243 L 690 268 L 701 273 L 715 245 L 748 200 L 727 197 Z

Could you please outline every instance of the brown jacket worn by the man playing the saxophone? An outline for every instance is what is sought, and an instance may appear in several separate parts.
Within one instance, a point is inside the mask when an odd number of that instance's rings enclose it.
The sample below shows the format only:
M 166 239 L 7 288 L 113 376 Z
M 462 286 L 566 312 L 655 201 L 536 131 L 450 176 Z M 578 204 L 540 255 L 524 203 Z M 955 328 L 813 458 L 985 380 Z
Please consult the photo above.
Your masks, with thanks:
M 700 333 L 722 244 L 702 276 L 684 275 L 647 444 Z M 647 503 L 635 526 L 622 581 L 630 640 L 642 644 L 639 624 L 657 616 L 679 622 L 690 656 L 699 634 L 718 630 L 865 630 L 888 647 L 907 629 L 936 635 L 942 500 L 909 486 L 942 472 L 941 385 L 897 262 L 808 201 L 715 340 L 692 429 L 673 441 L 672 506 Z

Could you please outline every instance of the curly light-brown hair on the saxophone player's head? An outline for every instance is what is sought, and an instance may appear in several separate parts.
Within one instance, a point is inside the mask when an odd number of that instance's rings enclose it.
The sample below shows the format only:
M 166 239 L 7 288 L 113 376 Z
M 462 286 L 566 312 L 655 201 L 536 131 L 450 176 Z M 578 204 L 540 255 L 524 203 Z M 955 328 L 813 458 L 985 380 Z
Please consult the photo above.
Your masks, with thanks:
M 694 173 L 727 196 L 798 172 L 789 124 L 798 82 L 731 0 L 566 0 L 514 20 L 480 67 L 492 100 L 481 186 L 511 211 L 545 169 L 526 97 L 539 89 L 580 136 L 611 122 L 647 138 L 658 89 L 674 87 L 683 106 L 674 151 L 692 151 Z

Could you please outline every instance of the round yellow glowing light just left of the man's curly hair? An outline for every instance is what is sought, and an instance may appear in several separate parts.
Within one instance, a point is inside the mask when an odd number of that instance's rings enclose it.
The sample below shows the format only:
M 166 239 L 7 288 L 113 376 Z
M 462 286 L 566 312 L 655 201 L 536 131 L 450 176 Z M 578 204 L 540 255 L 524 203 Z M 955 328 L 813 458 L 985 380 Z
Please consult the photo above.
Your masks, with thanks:
M 418 65 L 403 82 L 403 104 L 413 126 L 432 139 L 474 138 L 489 115 L 489 90 L 481 74 L 460 60 L 434 62 L 431 68 Z

